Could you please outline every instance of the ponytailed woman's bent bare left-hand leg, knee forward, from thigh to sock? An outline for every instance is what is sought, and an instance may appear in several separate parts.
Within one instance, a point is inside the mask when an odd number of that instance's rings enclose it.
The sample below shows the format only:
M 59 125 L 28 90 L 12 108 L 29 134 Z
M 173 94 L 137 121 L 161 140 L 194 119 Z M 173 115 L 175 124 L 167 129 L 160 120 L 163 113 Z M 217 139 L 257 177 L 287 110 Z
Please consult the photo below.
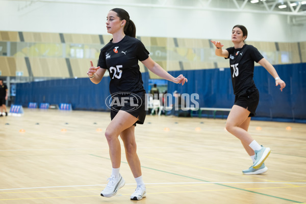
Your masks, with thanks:
M 121 162 L 121 147 L 118 139 L 119 134 L 133 126 L 138 119 L 125 111 L 119 111 L 108 125 L 105 136 L 110 148 L 110 158 L 113 168 L 119 168 Z

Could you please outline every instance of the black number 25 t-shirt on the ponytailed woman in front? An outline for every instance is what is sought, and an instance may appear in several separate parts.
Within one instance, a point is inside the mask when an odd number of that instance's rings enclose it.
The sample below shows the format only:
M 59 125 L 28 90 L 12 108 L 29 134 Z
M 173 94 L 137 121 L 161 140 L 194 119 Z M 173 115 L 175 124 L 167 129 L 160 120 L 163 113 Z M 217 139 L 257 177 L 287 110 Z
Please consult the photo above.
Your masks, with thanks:
M 145 91 L 138 60 L 146 60 L 148 50 L 140 40 L 127 35 L 120 42 L 112 41 L 101 49 L 98 61 L 98 66 L 110 72 L 110 93 Z

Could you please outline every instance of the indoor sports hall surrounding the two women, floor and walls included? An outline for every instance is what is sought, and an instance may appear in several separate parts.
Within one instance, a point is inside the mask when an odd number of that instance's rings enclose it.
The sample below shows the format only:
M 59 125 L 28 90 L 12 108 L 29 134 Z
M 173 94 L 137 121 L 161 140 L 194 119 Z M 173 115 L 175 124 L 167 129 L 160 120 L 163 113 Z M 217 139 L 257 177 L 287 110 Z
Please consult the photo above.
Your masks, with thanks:
M 100 195 L 113 161 L 109 86 L 123 72 L 113 67 L 94 84 L 88 71 L 112 39 L 114 8 L 130 14 L 152 60 L 188 79 L 175 84 L 138 63 L 140 200 L 130 198 L 138 184 L 120 137 L 125 185 Z M 306 1 L 0 0 L 0 19 L 0 204 L 306 203 Z M 234 25 L 286 83 L 279 90 L 254 63 L 260 97 L 247 132 L 271 149 L 258 174 L 242 172 L 252 160 L 227 128 L 238 68 L 216 53 L 234 46 Z

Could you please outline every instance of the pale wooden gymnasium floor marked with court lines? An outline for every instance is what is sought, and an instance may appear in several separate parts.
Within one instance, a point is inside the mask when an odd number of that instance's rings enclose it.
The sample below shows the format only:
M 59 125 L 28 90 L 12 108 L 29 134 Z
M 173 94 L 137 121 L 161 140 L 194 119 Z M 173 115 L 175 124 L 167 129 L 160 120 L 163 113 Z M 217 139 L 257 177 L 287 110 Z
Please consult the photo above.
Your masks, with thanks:
M 251 121 L 251 135 L 271 147 L 269 170 L 243 175 L 251 161 L 224 130 L 225 119 L 147 116 L 136 127 L 147 197 L 133 201 L 124 151 L 125 186 L 114 197 L 100 196 L 111 173 L 109 113 L 24 112 L 0 118 L 0 203 L 306 202 L 306 124 Z

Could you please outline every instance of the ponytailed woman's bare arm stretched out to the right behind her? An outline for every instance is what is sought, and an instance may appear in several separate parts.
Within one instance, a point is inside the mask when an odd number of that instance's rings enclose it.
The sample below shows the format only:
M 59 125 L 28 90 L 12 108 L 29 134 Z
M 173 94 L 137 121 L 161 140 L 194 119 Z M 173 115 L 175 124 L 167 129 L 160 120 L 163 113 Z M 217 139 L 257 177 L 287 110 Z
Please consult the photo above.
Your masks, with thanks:
M 141 61 L 144 66 L 146 66 L 151 72 L 157 74 L 159 77 L 168 80 L 170 82 L 174 82 L 175 84 L 184 85 L 185 82 L 188 82 L 187 78 L 183 76 L 183 74 L 179 75 L 179 77 L 174 78 L 171 74 L 165 71 L 159 64 L 157 64 L 150 57 L 148 59 Z

